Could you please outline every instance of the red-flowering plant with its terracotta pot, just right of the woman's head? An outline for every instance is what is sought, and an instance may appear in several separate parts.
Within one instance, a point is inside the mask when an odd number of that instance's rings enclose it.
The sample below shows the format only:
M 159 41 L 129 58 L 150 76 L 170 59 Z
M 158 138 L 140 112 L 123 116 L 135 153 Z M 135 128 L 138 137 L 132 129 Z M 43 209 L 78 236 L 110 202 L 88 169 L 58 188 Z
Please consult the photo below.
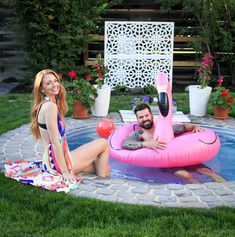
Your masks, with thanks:
M 88 118 L 88 109 L 94 104 L 97 91 L 91 85 L 90 78 L 82 70 L 70 71 L 63 80 L 67 93 L 72 95 L 73 117 Z

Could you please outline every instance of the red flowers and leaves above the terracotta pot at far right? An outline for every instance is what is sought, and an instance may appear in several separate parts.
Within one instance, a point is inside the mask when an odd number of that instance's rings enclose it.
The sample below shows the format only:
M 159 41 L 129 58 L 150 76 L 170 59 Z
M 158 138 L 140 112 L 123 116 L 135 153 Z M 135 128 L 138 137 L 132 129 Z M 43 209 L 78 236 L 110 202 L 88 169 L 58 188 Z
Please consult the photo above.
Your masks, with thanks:
M 223 77 L 220 76 L 215 92 L 212 93 L 209 104 L 213 107 L 232 108 L 233 97 L 230 96 L 228 89 L 222 86 Z

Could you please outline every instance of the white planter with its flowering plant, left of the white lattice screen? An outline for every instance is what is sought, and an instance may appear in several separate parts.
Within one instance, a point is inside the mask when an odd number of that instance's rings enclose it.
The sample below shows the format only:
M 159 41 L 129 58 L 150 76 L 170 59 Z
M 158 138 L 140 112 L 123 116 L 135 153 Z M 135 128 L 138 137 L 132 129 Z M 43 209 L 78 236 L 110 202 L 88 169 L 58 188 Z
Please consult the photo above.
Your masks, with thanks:
M 103 117 L 108 115 L 111 87 L 105 83 L 108 78 L 108 69 L 99 60 L 97 64 L 92 66 L 90 74 L 87 77 L 92 78 L 97 89 L 97 97 L 91 106 L 93 116 Z

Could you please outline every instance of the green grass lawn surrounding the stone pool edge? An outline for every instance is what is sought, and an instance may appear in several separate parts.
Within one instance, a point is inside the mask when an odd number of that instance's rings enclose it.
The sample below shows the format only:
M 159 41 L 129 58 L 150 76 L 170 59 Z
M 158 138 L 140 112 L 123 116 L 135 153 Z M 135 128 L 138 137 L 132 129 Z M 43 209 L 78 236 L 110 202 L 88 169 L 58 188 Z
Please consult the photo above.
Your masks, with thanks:
M 138 96 L 112 96 L 110 112 L 131 109 L 133 97 Z M 174 94 L 173 97 L 177 99 L 178 110 L 187 113 L 188 94 Z M 30 94 L 0 97 L 0 134 L 30 122 L 31 102 Z M 68 114 L 71 112 L 70 109 Z M 0 237 L 227 237 L 235 236 L 234 233 L 234 208 L 158 208 L 75 198 L 19 184 L 0 173 Z

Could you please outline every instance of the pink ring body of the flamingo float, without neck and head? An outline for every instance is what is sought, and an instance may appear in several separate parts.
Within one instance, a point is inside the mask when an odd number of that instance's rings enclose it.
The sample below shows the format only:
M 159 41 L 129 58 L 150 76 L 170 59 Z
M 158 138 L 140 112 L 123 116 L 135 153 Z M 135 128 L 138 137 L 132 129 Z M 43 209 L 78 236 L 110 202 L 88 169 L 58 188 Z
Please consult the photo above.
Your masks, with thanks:
M 117 128 L 109 137 L 110 156 L 118 161 L 145 167 L 170 168 L 200 164 L 217 155 L 220 140 L 216 133 L 204 128 L 203 132 L 186 132 L 174 137 L 164 150 L 149 148 L 122 149 L 125 137 L 136 129 L 136 123 L 127 123 Z

